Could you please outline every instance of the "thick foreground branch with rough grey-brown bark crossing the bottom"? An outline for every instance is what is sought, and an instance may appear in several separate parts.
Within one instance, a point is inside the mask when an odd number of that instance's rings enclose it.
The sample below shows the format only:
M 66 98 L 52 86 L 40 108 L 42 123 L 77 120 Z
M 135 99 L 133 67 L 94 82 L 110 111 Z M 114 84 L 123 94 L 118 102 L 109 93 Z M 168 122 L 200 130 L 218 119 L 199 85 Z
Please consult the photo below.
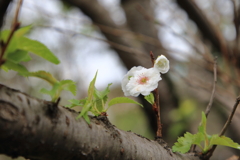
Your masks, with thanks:
M 198 160 L 92 117 L 88 125 L 73 110 L 0 85 L 0 153 L 43 160 Z

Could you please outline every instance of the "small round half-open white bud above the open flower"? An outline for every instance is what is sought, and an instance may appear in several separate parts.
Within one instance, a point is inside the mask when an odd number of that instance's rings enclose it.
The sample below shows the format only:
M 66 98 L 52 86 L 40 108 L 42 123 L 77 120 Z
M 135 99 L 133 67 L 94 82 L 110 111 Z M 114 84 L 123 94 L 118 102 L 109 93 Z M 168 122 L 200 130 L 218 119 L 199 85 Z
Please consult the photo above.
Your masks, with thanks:
M 158 56 L 154 63 L 154 68 L 161 73 L 167 73 L 169 70 L 169 60 L 164 55 Z

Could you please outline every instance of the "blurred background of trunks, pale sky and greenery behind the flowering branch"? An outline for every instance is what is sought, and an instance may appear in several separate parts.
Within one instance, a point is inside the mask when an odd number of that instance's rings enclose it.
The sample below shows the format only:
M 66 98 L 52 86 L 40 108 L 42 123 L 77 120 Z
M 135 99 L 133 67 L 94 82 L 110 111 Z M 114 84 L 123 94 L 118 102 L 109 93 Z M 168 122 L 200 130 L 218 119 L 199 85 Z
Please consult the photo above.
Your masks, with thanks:
M 17 1 L 7 10 L 2 29 L 10 29 Z M 214 58 L 217 83 L 208 133 L 221 131 L 240 86 L 240 2 L 235 0 L 24 0 L 21 26 L 33 25 L 27 35 L 44 43 L 60 59 L 54 65 L 31 55 L 23 63 L 29 71 L 46 70 L 58 80 L 77 83 L 77 96 L 61 95 L 61 105 L 87 96 L 89 82 L 98 70 L 97 89 L 110 87 L 110 97 L 123 96 L 121 80 L 133 66 L 152 66 L 149 52 L 170 60 L 170 71 L 159 82 L 163 138 L 172 146 L 188 131 L 196 133 L 201 111 L 213 90 Z M 39 92 L 49 88 L 37 78 L 24 78 L 14 71 L 0 70 L 0 83 L 50 100 Z M 132 104 L 111 107 L 112 124 L 154 139 L 155 115 L 143 97 Z M 240 109 L 227 136 L 240 143 Z M 217 147 L 212 159 L 239 155 L 236 149 Z M 2 156 L 2 160 L 10 159 Z M 20 158 L 23 159 L 23 158 Z

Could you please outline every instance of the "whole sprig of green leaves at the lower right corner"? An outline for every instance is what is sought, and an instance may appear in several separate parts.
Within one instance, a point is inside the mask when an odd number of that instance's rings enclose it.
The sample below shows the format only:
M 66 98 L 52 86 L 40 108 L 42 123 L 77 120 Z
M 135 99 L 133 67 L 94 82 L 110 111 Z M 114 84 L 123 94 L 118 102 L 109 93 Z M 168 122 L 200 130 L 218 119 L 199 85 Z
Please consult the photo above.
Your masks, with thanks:
M 208 135 L 206 132 L 207 118 L 202 112 L 201 125 L 198 127 L 196 134 L 186 132 L 184 137 L 179 137 L 177 142 L 172 147 L 173 152 L 186 153 L 190 150 L 192 145 L 197 145 L 202 153 L 206 153 L 213 145 L 228 146 L 240 149 L 238 143 L 233 142 L 232 139 L 226 136 L 219 136 L 218 134 Z

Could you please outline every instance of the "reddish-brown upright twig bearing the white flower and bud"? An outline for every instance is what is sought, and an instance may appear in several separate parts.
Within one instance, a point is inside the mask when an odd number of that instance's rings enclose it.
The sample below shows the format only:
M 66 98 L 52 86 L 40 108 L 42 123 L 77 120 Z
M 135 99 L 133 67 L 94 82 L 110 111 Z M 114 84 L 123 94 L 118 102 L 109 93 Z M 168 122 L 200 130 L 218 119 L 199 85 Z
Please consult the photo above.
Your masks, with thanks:
M 150 51 L 150 57 L 151 61 L 154 65 L 154 55 L 152 51 Z M 162 138 L 162 124 L 161 124 L 161 112 L 160 112 L 160 103 L 159 103 L 159 93 L 158 93 L 158 88 L 156 88 L 153 92 L 154 95 L 154 103 L 152 104 L 152 108 L 154 113 L 156 114 L 157 117 L 157 132 L 156 132 L 156 139 Z

